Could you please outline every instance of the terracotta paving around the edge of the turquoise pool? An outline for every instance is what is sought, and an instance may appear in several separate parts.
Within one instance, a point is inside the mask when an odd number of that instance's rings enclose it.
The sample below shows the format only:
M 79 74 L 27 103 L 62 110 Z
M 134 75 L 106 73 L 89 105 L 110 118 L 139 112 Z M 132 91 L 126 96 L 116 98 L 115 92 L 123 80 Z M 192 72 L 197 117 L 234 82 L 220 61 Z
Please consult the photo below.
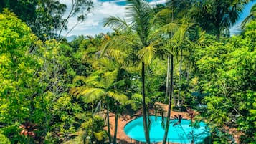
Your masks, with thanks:
M 157 103 L 157 104 L 161 105 L 163 110 L 166 110 L 166 112 L 167 112 L 168 105 L 161 104 L 161 103 Z M 149 110 L 149 112 L 150 112 L 151 115 L 154 115 L 154 110 Z M 174 112 L 174 111 L 171 111 L 171 116 L 178 115 L 178 114 L 183 115 L 185 119 L 189 119 L 189 117 L 188 117 L 186 112 Z M 126 135 L 124 130 L 123 130 L 123 128 L 125 127 L 126 123 L 128 123 L 131 120 L 135 119 L 136 117 L 140 117 L 140 116 L 142 116 L 141 115 L 141 110 L 139 110 L 136 113 L 136 115 L 134 115 L 133 117 L 130 117 L 129 115 L 120 115 L 118 117 L 117 140 L 118 140 L 119 144 L 130 144 L 130 143 L 142 144 L 141 142 L 136 142 L 136 140 L 131 140 L 131 138 L 129 138 L 128 135 Z M 111 133 L 112 137 L 114 135 L 114 128 L 115 128 L 115 114 L 110 113 L 110 133 Z M 105 127 L 105 130 L 107 130 L 107 127 Z M 160 143 L 158 143 L 158 144 L 160 144 Z M 169 144 L 171 144 L 171 143 L 169 143 Z

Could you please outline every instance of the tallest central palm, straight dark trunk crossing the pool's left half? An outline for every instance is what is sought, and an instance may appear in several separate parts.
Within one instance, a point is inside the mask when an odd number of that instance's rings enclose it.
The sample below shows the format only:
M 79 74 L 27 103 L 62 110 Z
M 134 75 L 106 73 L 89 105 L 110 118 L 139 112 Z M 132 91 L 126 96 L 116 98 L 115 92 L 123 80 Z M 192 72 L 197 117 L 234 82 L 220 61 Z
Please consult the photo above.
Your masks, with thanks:
M 133 37 L 126 37 L 126 39 L 131 39 L 130 44 L 133 44 L 133 51 L 138 54 L 138 58 L 141 62 L 141 83 L 142 83 L 142 107 L 143 107 L 143 127 L 146 138 L 146 143 L 150 143 L 149 139 L 149 129 L 148 129 L 148 119 L 146 117 L 146 92 L 145 92 L 145 66 L 151 63 L 153 54 L 156 52 L 157 42 L 152 42 L 150 39 L 151 30 L 151 14 L 152 9 L 150 8 L 148 2 L 144 0 L 128 0 L 126 5 L 126 22 L 124 19 L 116 18 L 110 16 L 105 20 L 105 26 L 111 27 L 119 32 L 127 32 Z M 122 37 L 120 37 L 122 39 Z M 108 44 L 105 49 L 116 49 L 117 45 L 119 48 L 127 49 L 127 45 L 121 45 L 120 43 L 125 43 L 124 41 L 113 41 L 112 44 Z M 116 55 L 116 54 L 115 54 Z

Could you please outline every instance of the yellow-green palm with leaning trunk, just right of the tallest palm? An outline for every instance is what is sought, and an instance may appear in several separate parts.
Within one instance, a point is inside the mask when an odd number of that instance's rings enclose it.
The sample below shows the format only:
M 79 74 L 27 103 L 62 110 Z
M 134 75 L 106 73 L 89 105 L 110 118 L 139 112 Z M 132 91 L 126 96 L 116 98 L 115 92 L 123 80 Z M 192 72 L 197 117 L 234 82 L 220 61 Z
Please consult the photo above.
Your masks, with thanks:
M 174 97 L 174 54 L 178 53 L 182 42 L 185 40 L 186 32 L 191 27 L 192 24 L 182 19 L 181 23 L 174 23 L 174 12 L 171 9 L 162 9 L 159 11 L 153 19 L 153 24 L 158 27 L 157 34 L 166 34 L 168 39 L 166 39 L 166 52 L 168 53 L 167 61 L 167 77 L 166 77 L 166 97 L 169 97 L 169 105 L 166 120 L 166 129 L 163 136 L 163 143 L 166 143 L 167 134 L 169 131 L 169 121 L 171 115 L 171 100 L 174 98 L 174 105 L 177 107 L 176 97 Z M 181 52 L 182 54 L 182 52 Z M 182 57 L 181 57 L 182 59 Z M 178 98 L 178 103 L 179 103 Z

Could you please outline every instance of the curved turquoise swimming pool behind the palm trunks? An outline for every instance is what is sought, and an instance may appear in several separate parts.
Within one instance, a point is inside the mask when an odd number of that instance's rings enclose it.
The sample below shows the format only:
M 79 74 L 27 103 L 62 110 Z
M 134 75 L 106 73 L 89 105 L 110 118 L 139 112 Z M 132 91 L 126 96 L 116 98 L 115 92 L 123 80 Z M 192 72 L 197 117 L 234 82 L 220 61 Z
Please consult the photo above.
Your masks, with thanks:
M 151 142 L 161 142 L 163 140 L 164 128 L 161 125 L 162 117 L 159 116 L 149 116 L 151 121 L 151 127 L 149 132 L 149 137 Z M 166 123 L 166 118 L 164 118 Z M 196 128 L 192 128 L 191 120 L 181 120 L 180 125 L 175 125 L 177 120 L 171 120 L 169 125 L 169 133 L 167 141 L 172 143 L 191 143 L 194 137 L 194 143 L 199 143 L 209 136 L 209 128 L 204 122 L 199 122 Z M 124 131 L 126 135 L 135 140 L 146 142 L 143 128 L 143 117 L 138 117 L 135 120 L 127 123 L 125 125 Z M 193 134 L 192 131 L 194 132 Z M 192 136 L 194 135 L 194 136 Z

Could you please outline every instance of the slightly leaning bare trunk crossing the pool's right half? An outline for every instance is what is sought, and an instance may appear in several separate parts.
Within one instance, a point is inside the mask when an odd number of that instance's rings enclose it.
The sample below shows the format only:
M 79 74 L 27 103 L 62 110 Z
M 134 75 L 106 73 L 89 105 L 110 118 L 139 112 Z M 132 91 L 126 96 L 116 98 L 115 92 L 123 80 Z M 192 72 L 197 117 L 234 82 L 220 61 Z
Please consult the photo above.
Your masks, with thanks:
M 172 49 L 173 50 L 173 49 Z M 168 64 L 168 69 L 170 69 L 170 74 L 171 75 L 171 90 L 169 90 L 169 102 L 168 102 L 168 111 L 167 111 L 167 118 L 166 118 L 166 128 L 164 131 L 164 136 L 163 136 L 163 144 L 166 143 L 166 139 L 168 136 L 168 131 L 169 131 L 169 125 L 170 125 L 170 117 L 171 117 L 171 100 L 172 100 L 172 95 L 174 93 L 174 56 L 172 54 L 168 55 L 169 58 L 169 64 Z

